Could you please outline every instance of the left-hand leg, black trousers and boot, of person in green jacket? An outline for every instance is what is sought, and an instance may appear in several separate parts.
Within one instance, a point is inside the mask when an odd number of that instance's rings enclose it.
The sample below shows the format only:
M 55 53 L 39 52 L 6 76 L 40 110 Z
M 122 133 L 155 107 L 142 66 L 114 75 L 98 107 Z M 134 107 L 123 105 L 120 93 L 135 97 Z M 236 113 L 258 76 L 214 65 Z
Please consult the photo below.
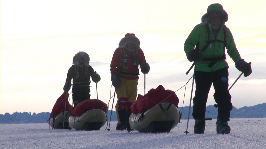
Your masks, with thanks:
M 195 73 L 196 91 L 193 98 L 192 116 L 195 119 L 194 133 L 202 134 L 205 131 L 205 112 L 208 94 L 211 87 L 211 73 Z

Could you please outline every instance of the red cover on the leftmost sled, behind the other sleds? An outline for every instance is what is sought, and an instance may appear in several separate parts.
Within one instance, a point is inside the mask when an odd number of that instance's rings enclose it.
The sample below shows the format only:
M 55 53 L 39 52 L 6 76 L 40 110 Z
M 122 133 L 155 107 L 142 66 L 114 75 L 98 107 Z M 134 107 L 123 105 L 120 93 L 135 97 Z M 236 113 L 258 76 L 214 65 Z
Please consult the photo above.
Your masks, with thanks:
M 65 100 L 68 98 L 68 93 L 64 92 L 55 102 L 50 117 L 54 117 L 65 111 Z M 72 106 L 66 100 L 66 111 L 72 111 Z

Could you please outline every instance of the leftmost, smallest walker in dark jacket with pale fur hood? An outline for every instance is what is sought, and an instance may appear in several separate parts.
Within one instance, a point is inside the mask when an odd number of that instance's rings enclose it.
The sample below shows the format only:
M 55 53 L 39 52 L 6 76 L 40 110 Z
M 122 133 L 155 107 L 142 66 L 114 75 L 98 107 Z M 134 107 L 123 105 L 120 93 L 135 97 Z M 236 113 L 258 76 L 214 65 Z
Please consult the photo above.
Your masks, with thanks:
M 92 77 L 92 81 L 95 83 L 101 80 L 101 77 L 94 72 L 89 63 L 89 55 L 86 52 L 80 51 L 73 57 L 73 65 L 68 69 L 63 89 L 65 92 L 70 90 L 73 78 L 72 99 L 74 107 L 78 103 L 90 99 L 90 77 Z

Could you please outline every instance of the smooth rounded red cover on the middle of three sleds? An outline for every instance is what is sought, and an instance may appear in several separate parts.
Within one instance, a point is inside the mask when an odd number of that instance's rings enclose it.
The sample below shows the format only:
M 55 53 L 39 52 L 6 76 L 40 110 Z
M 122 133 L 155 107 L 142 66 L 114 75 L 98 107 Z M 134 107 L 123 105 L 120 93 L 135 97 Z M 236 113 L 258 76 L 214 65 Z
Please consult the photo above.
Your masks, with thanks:
M 73 109 L 71 116 L 80 116 L 81 114 L 92 110 L 92 109 L 101 109 L 105 113 L 108 111 L 107 104 L 102 102 L 99 99 L 87 99 L 81 103 L 78 103 L 77 106 Z

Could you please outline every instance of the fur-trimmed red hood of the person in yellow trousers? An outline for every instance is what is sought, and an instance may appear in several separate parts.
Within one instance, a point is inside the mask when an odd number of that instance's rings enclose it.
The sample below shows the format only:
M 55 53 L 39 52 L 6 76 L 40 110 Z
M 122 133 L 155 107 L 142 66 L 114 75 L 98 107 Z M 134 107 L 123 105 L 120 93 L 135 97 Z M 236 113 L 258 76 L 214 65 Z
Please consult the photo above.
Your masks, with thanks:
M 134 43 L 135 44 L 135 49 L 139 49 L 140 41 L 139 39 L 135 36 L 135 34 L 130 34 L 127 33 L 124 38 L 122 38 L 119 42 L 119 48 L 125 48 L 128 43 Z

